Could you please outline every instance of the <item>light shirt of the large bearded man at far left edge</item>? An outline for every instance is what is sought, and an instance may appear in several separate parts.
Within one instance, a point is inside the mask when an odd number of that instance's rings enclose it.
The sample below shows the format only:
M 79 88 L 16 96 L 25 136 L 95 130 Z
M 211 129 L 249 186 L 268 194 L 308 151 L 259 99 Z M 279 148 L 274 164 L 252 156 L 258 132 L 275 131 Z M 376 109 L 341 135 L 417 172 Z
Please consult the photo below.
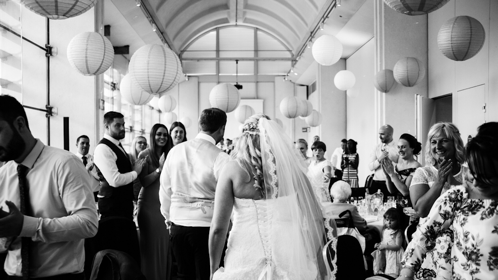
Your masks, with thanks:
M 21 163 L 26 175 L 34 217 L 24 215 L 22 230 L 9 246 L 4 263 L 8 275 L 21 276 L 21 237 L 30 237 L 30 277 L 83 272 L 85 238 L 97 233 L 98 216 L 90 177 L 73 154 L 45 146 L 40 140 Z M 0 202 L 20 209 L 18 164 L 0 169 Z

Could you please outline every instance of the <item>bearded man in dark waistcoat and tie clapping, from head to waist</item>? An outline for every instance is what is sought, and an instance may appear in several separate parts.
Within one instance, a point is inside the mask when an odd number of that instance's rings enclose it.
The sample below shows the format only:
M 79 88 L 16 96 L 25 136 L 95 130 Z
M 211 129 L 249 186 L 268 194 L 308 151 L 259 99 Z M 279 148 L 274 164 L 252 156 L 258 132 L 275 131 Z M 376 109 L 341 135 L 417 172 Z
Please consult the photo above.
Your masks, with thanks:
M 142 171 L 145 159 L 131 166 L 120 140 L 124 138 L 124 116 L 118 112 L 104 115 L 104 138 L 94 151 L 94 163 L 101 178 L 99 212 L 101 218 L 120 216 L 133 219 L 133 180 Z

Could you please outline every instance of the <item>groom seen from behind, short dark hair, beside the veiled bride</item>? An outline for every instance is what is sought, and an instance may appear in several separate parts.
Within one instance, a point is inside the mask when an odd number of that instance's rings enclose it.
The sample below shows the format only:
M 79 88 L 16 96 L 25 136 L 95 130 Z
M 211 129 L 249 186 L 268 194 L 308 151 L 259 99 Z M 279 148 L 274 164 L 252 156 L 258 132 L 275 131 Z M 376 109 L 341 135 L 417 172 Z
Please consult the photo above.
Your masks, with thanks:
M 195 139 L 168 153 L 161 173 L 161 213 L 170 230 L 178 280 L 209 280 L 209 226 L 213 218 L 216 183 L 230 156 L 216 147 L 223 139 L 227 114 L 202 111 Z

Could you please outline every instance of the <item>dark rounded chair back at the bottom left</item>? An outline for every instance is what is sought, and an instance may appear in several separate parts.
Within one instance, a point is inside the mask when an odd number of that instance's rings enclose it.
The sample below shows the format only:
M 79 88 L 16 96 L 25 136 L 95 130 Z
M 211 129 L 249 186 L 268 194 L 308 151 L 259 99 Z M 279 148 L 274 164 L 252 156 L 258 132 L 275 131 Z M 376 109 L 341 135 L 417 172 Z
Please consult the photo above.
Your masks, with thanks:
M 130 255 L 102 250 L 95 254 L 90 280 L 145 280 L 145 276 Z

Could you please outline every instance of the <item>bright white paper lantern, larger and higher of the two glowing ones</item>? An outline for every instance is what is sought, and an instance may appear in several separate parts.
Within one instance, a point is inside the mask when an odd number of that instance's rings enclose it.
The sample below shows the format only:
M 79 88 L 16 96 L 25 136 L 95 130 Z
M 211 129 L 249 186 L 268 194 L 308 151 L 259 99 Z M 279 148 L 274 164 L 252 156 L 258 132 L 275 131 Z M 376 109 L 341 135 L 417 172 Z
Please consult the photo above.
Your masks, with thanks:
M 342 50 L 343 47 L 339 39 L 332 35 L 322 35 L 316 39 L 311 48 L 311 53 L 316 62 L 329 66 L 341 59 Z

